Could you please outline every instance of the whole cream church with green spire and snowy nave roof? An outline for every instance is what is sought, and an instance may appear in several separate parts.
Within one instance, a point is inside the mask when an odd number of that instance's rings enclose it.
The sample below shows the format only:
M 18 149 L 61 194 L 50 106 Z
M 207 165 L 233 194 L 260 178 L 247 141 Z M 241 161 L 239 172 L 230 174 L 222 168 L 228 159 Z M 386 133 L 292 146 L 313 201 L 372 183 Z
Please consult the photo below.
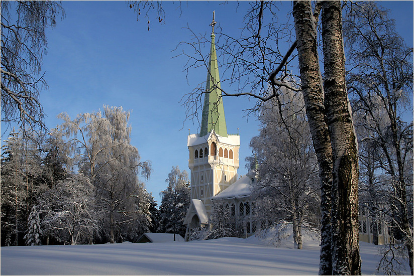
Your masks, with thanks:
M 254 176 L 239 178 L 237 174 L 240 136 L 227 132 L 215 46 L 215 24 L 213 16 L 206 82 L 208 93 L 204 94 L 200 133 L 189 134 L 187 137 L 191 202 L 184 219 L 184 224 L 187 225 L 185 240 L 188 240 L 192 229 L 208 225 L 214 200 L 226 202 L 231 215 L 243 217 L 243 221 L 246 221 L 246 234 L 255 231 L 249 220 L 252 213 L 250 185 Z

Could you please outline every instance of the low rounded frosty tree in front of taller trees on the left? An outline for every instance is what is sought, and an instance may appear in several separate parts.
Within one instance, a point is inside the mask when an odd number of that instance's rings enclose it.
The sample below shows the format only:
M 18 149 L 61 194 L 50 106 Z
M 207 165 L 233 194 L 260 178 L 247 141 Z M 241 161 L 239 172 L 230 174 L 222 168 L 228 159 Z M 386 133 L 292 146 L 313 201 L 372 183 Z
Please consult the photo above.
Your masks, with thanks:
M 66 244 L 88 243 L 100 230 L 95 187 L 81 174 L 56 183 L 39 199 L 42 229 Z

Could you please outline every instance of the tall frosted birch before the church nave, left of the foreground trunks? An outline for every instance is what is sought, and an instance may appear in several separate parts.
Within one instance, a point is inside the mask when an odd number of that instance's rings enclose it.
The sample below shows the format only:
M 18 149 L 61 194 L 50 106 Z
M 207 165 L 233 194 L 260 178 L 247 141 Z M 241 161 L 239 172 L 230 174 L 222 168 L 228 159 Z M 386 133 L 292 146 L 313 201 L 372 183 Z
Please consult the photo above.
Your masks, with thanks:
M 295 247 L 301 249 L 302 229 L 319 229 L 318 168 L 301 93 L 284 91 L 280 99 L 262 105 L 262 128 L 250 142 L 255 153 L 250 161 L 258 165 L 255 216 L 271 220 L 269 227 L 291 223 Z

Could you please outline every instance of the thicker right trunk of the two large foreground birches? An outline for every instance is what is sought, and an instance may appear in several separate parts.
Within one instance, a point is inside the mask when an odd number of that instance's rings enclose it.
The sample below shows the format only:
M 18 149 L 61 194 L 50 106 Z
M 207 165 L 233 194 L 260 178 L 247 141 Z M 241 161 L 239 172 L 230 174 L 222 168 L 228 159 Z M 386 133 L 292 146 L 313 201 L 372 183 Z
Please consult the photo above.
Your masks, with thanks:
M 361 274 L 358 233 L 358 146 L 345 84 L 339 1 L 322 2 L 325 108 L 333 156 L 332 273 Z

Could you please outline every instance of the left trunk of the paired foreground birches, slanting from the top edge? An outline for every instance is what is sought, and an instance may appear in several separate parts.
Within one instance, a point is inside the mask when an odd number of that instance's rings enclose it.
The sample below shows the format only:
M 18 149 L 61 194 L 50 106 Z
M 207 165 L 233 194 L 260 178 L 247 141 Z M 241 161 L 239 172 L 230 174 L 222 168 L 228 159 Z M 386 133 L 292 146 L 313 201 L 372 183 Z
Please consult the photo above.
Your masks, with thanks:
M 293 17 L 299 58 L 300 80 L 306 116 L 314 143 L 321 180 L 321 260 L 319 274 L 332 275 L 331 188 L 332 148 L 325 118 L 322 76 L 317 51 L 316 20 L 310 1 L 294 1 Z

